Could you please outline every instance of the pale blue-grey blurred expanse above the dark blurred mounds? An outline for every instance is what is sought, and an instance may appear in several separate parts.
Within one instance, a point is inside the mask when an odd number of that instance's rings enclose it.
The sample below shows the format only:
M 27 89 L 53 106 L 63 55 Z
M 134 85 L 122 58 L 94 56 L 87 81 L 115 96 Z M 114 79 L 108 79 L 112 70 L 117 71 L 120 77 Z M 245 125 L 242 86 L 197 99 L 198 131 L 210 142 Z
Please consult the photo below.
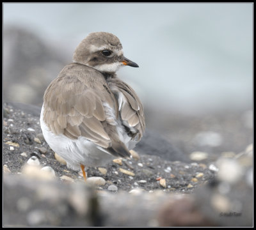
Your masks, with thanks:
M 90 32 L 120 38 L 140 68 L 118 76 L 167 111 L 252 108 L 252 3 L 4 3 L 4 27 L 22 26 L 72 61 Z

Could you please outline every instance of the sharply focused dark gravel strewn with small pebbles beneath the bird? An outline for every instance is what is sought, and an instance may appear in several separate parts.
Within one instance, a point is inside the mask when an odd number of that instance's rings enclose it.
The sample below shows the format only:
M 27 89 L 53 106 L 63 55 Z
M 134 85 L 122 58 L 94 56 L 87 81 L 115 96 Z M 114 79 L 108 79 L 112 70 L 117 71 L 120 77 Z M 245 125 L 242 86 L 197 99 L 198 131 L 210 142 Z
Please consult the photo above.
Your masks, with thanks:
M 40 166 L 51 166 L 59 180 L 83 180 L 81 171 L 68 169 L 65 164 L 56 160 L 54 152 L 42 136 L 38 111 L 40 109 L 35 107 L 35 110 L 32 109 L 27 113 L 11 104 L 4 104 L 3 165 L 5 169 L 13 174 L 19 174 L 29 158 L 37 157 Z M 209 170 L 206 164 L 170 161 L 163 156 L 159 157 L 157 152 L 156 155 L 145 154 L 144 150 L 145 148 L 137 150 L 139 155 L 137 159 L 123 159 L 102 167 L 89 167 L 86 169 L 87 176 L 88 178 L 98 176 L 106 181 L 105 184 L 99 185 L 98 190 L 118 192 L 141 188 L 146 191 L 163 190 L 186 194 L 192 193 L 194 188 L 214 177 L 214 172 Z M 148 151 L 150 150 L 147 149 L 146 153 Z

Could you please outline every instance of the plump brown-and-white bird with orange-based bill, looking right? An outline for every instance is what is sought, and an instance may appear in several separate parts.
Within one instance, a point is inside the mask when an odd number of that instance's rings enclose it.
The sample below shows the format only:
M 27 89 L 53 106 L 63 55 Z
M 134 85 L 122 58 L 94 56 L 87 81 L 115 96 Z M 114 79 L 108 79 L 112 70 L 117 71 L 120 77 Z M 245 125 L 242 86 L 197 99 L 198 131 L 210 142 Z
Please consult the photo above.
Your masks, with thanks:
M 76 47 L 44 93 L 40 126 L 45 141 L 67 162 L 80 169 L 131 158 L 145 132 L 140 98 L 116 71 L 139 67 L 124 56 L 122 43 L 107 32 L 88 34 Z

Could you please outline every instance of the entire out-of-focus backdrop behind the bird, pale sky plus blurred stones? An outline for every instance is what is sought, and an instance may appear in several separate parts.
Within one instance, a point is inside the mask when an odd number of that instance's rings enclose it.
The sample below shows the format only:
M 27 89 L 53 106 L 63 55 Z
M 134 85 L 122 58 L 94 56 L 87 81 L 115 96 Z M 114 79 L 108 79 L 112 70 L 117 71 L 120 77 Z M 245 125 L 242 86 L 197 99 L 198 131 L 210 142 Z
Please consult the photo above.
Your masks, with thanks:
M 42 106 L 79 42 L 107 31 L 140 65 L 118 76 L 147 128 L 188 153 L 239 153 L 252 143 L 252 15 L 252 3 L 4 3 L 4 101 Z

